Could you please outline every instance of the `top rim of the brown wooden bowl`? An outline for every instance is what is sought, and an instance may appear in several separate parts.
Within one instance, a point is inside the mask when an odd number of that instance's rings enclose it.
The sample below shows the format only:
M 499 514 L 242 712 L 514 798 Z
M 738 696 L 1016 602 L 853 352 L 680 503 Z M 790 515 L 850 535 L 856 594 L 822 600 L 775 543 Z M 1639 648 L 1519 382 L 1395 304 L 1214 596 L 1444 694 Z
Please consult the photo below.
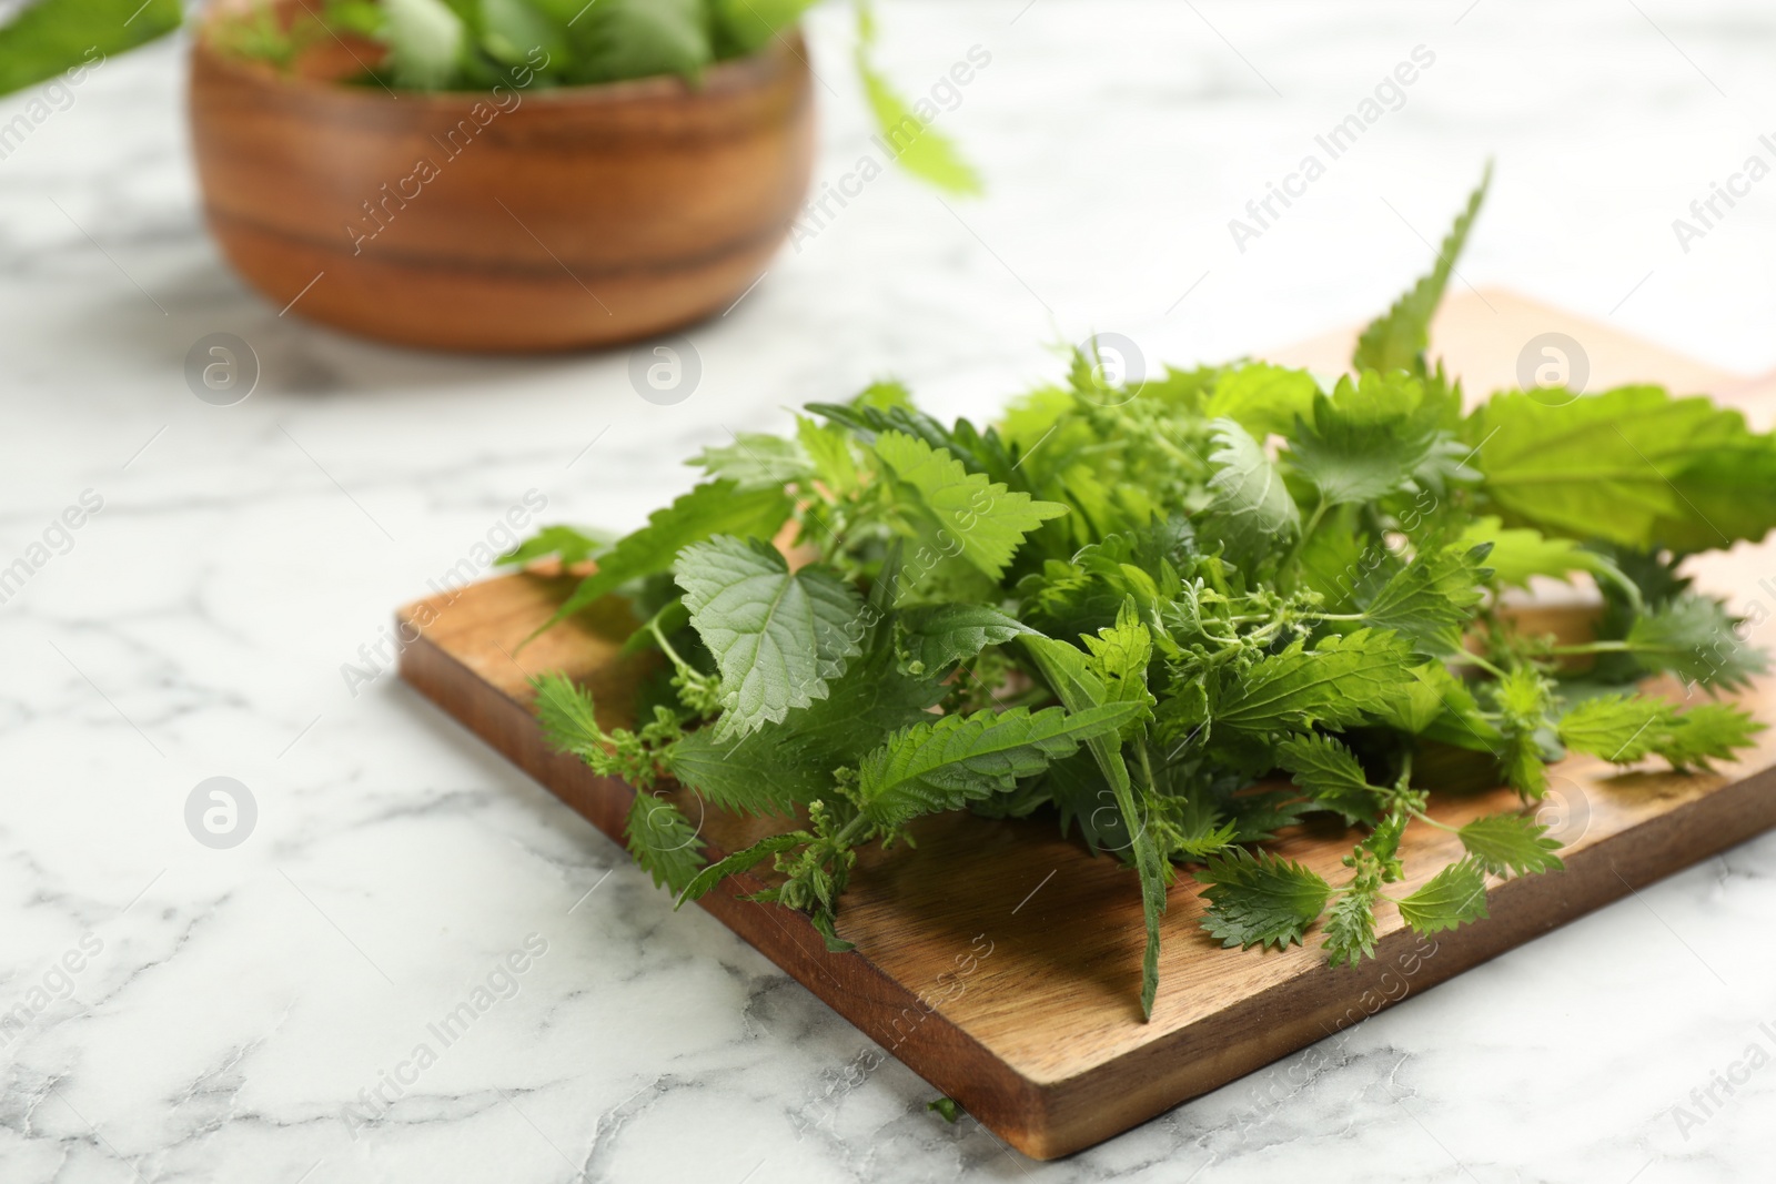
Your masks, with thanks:
M 392 107 L 394 103 L 414 103 L 417 108 L 433 112 L 439 108 L 469 108 L 476 103 L 487 103 L 492 94 L 492 87 L 485 91 L 398 91 L 396 94 L 389 94 L 385 91 L 375 91 L 371 87 L 352 85 L 346 82 L 323 82 L 320 78 L 286 75 L 266 62 L 242 59 L 210 44 L 210 30 L 227 9 L 227 4 L 213 5 L 202 23 L 194 30 L 194 64 L 197 59 L 202 59 L 208 69 L 222 71 L 234 80 L 265 91 L 282 89 L 320 98 L 323 101 L 350 103 L 361 99 L 364 103 L 382 103 L 385 107 Z M 808 69 L 806 48 L 801 27 L 797 25 L 787 36 L 773 37 L 771 44 L 760 50 L 712 62 L 703 71 L 702 85 L 696 87 L 687 83 L 678 75 L 650 75 L 646 78 L 583 82 L 565 87 L 522 87 L 522 91 L 526 101 L 540 101 L 554 107 L 604 107 L 639 101 L 696 101 L 709 98 L 732 98 L 735 94 L 746 94 L 769 87 L 773 82 L 781 78 L 785 71 L 794 69 L 790 64 L 792 59 L 803 69 Z

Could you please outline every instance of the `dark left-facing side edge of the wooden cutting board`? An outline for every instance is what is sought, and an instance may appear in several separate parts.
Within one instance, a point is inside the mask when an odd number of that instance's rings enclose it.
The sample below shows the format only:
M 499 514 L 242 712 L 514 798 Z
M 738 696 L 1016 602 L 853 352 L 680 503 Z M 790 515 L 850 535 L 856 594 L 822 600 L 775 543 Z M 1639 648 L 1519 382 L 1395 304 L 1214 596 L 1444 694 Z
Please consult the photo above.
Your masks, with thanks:
M 614 777 L 600 777 L 574 756 L 551 751 L 542 726 L 522 703 L 480 678 L 417 628 L 412 618 L 416 607 L 407 605 L 396 614 L 398 627 L 417 630 L 401 650 L 401 680 L 622 847 L 623 820 L 636 790 Z M 712 859 L 723 854 L 709 852 Z M 623 857 L 629 857 L 627 852 Z M 1034 1159 L 1051 1159 L 1083 1147 L 1060 1147 L 1041 1122 L 1030 1122 L 1032 1115 L 1050 1111 L 1050 1086 L 1016 1072 L 861 953 L 829 953 L 806 918 L 776 905 L 739 900 L 741 893 L 764 888 L 764 880 L 742 873 L 723 880 L 698 904 L 1018 1150 Z

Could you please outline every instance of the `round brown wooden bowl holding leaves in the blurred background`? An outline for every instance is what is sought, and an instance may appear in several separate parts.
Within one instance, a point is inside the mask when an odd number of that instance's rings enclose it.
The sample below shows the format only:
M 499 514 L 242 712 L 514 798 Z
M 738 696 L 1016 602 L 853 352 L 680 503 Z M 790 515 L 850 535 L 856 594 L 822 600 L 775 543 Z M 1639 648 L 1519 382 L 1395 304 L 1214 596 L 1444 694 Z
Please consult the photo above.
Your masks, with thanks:
M 201 32 L 192 146 L 229 263 L 355 334 L 483 351 L 648 337 L 746 291 L 808 188 L 799 37 L 696 89 L 391 94 L 341 82 L 373 46 L 325 50 L 279 73 Z

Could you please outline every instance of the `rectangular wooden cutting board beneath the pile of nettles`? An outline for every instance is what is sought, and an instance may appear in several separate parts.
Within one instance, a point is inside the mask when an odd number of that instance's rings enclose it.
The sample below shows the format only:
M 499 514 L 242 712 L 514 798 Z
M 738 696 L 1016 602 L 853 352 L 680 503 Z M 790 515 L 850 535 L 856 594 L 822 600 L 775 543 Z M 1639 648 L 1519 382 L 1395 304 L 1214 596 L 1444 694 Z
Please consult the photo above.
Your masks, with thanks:
M 1433 341 L 1469 391 L 1483 392 L 1513 383 L 1524 341 L 1547 330 L 1584 344 L 1591 389 L 1655 380 L 1710 391 L 1760 414 L 1769 408 L 1762 392 L 1771 383 L 1710 371 L 1506 293 L 1453 300 Z M 1337 371 L 1350 343 L 1352 334 L 1336 334 L 1272 357 Z M 1703 568 L 1703 582 L 1733 595 L 1737 605 L 1756 598 L 1776 605 L 1776 580 L 1758 588 L 1760 575 L 1776 575 L 1769 547 L 1742 545 Z M 574 582 L 508 575 L 407 605 L 398 621 L 407 635 L 417 630 L 417 639 L 401 655 L 401 676 L 620 838 L 632 790 L 551 751 L 526 683 L 542 671 L 567 671 L 591 689 L 606 726 L 629 722 L 625 705 L 646 659 L 618 657 L 632 627 L 627 609 L 607 602 L 513 657 Z M 1776 722 L 1772 683 L 1760 683 L 1746 701 Z M 1776 825 L 1772 769 L 1776 730 L 1742 763 L 1712 776 L 1677 776 L 1655 763 L 1618 772 L 1598 760 L 1568 760 L 1554 770 L 1542 813 L 1568 843 L 1566 872 L 1495 882 L 1490 920 L 1437 939 L 1417 937 L 1384 905 L 1376 959 L 1357 969 L 1327 967 L 1318 939 L 1284 951 L 1222 950 L 1199 928 L 1202 902 L 1185 875 L 1165 914 L 1151 1022 L 1142 1022 L 1137 998 L 1142 916 L 1135 877 L 1062 840 L 1050 818 L 927 818 L 915 827 L 916 849 L 865 854 L 838 916 L 854 953 L 828 953 L 801 914 L 735 900 L 765 884 L 755 875 L 730 879 L 702 905 L 1012 1147 L 1050 1159 Z M 702 818 L 712 859 L 783 827 L 703 811 L 696 799 L 680 806 Z M 1462 824 L 1515 806 L 1515 793 L 1483 790 L 1440 795 L 1431 813 Z M 1307 827 L 1279 850 L 1341 879 L 1350 838 Z M 1414 827 L 1401 850 L 1408 873 L 1401 891 L 1458 852 L 1455 836 Z

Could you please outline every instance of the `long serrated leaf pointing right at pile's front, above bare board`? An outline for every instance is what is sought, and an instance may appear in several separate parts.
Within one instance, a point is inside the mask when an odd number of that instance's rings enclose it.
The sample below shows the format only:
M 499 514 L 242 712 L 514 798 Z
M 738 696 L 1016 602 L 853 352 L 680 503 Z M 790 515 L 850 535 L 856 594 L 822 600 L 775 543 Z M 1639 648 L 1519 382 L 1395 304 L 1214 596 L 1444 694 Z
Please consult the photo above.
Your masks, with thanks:
M 1106 703 L 1083 712 L 1050 706 L 1030 714 L 1019 706 L 943 715 L 893 735 L 865 756 L 856 797 L 863 815 L 881 827 L 961 809 L 1009 793 L 1019 777 L 1034 777 L 1085 740 L 1114 735 L 1137 714 L 1133 703 Z

